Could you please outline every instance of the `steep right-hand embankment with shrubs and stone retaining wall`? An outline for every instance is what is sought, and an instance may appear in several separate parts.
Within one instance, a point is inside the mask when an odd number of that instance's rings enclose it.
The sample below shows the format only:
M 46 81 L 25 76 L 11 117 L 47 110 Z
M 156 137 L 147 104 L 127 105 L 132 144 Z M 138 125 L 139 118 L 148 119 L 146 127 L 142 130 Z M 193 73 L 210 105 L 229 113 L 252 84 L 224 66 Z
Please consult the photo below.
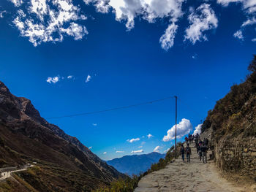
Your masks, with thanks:
M 256 56 L 245 82 L 217 101 L 202 126 L 217 166 L 225 173 L 256 178 Z

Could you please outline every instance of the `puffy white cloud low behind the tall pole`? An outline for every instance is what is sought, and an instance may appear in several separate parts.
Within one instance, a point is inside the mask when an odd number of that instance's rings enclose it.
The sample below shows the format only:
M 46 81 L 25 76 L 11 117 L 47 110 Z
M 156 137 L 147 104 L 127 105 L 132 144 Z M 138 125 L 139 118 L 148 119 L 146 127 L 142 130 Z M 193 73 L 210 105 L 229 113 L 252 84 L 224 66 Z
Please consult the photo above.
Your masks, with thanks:
M 177 138 L 183 137 L 192 130 L 192 124 L 190 120 L 183 118 L 180 123 L 177 124 Z M 162 139 L 164 142 L 175 139 L 175 125 L 167 131 L 167 135 Z

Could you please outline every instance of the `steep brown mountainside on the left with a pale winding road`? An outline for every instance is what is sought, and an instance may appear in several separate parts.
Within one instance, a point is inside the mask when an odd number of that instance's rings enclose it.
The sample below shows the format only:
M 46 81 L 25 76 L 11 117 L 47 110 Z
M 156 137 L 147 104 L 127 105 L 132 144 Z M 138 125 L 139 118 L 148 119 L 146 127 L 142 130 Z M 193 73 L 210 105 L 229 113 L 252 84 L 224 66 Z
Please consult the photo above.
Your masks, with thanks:
M 15 174 L 16 180 L 23 180 L 20 191 L 91 191 L 125 177 L 77 138 L 48 123 L 29 99 L 12 95 L 0 81 L 0 167 L 32 162 L 37 165 Z M 17 189 L 12 180 L 7 184 Z

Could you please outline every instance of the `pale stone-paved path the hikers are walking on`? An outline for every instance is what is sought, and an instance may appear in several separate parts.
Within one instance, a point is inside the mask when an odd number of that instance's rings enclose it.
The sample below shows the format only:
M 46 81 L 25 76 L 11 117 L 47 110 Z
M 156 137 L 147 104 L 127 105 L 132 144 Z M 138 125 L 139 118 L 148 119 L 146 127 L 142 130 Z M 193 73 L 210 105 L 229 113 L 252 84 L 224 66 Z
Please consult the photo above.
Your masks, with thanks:
M 198 158 L 195 147 L 192 147 L 191 163 L 183 162 L 179 157 L 165 169 L 143 177 L 138 188 L 135 189 L 135 192 L 151 191 L 224 192 L 248 191 L 248 189 L 237 187 L 220 177 L 214 163 L 203 164 Z

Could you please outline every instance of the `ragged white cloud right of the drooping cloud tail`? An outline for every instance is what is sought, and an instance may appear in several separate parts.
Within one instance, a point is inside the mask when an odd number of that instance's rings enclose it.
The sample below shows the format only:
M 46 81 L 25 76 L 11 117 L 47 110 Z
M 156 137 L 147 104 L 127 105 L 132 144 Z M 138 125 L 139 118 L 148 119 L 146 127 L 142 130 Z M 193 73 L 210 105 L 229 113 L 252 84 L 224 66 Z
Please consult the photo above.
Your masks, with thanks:
M 218 19 L 210 4 L 201 4 L 200 7 L 192 11 L 188 20 L 190 26 L 186 29 L 184 41 L 189 40 L 192 44 L 202 39 L 206 41 L 207 37 L 203 32 L 218 26 Z

